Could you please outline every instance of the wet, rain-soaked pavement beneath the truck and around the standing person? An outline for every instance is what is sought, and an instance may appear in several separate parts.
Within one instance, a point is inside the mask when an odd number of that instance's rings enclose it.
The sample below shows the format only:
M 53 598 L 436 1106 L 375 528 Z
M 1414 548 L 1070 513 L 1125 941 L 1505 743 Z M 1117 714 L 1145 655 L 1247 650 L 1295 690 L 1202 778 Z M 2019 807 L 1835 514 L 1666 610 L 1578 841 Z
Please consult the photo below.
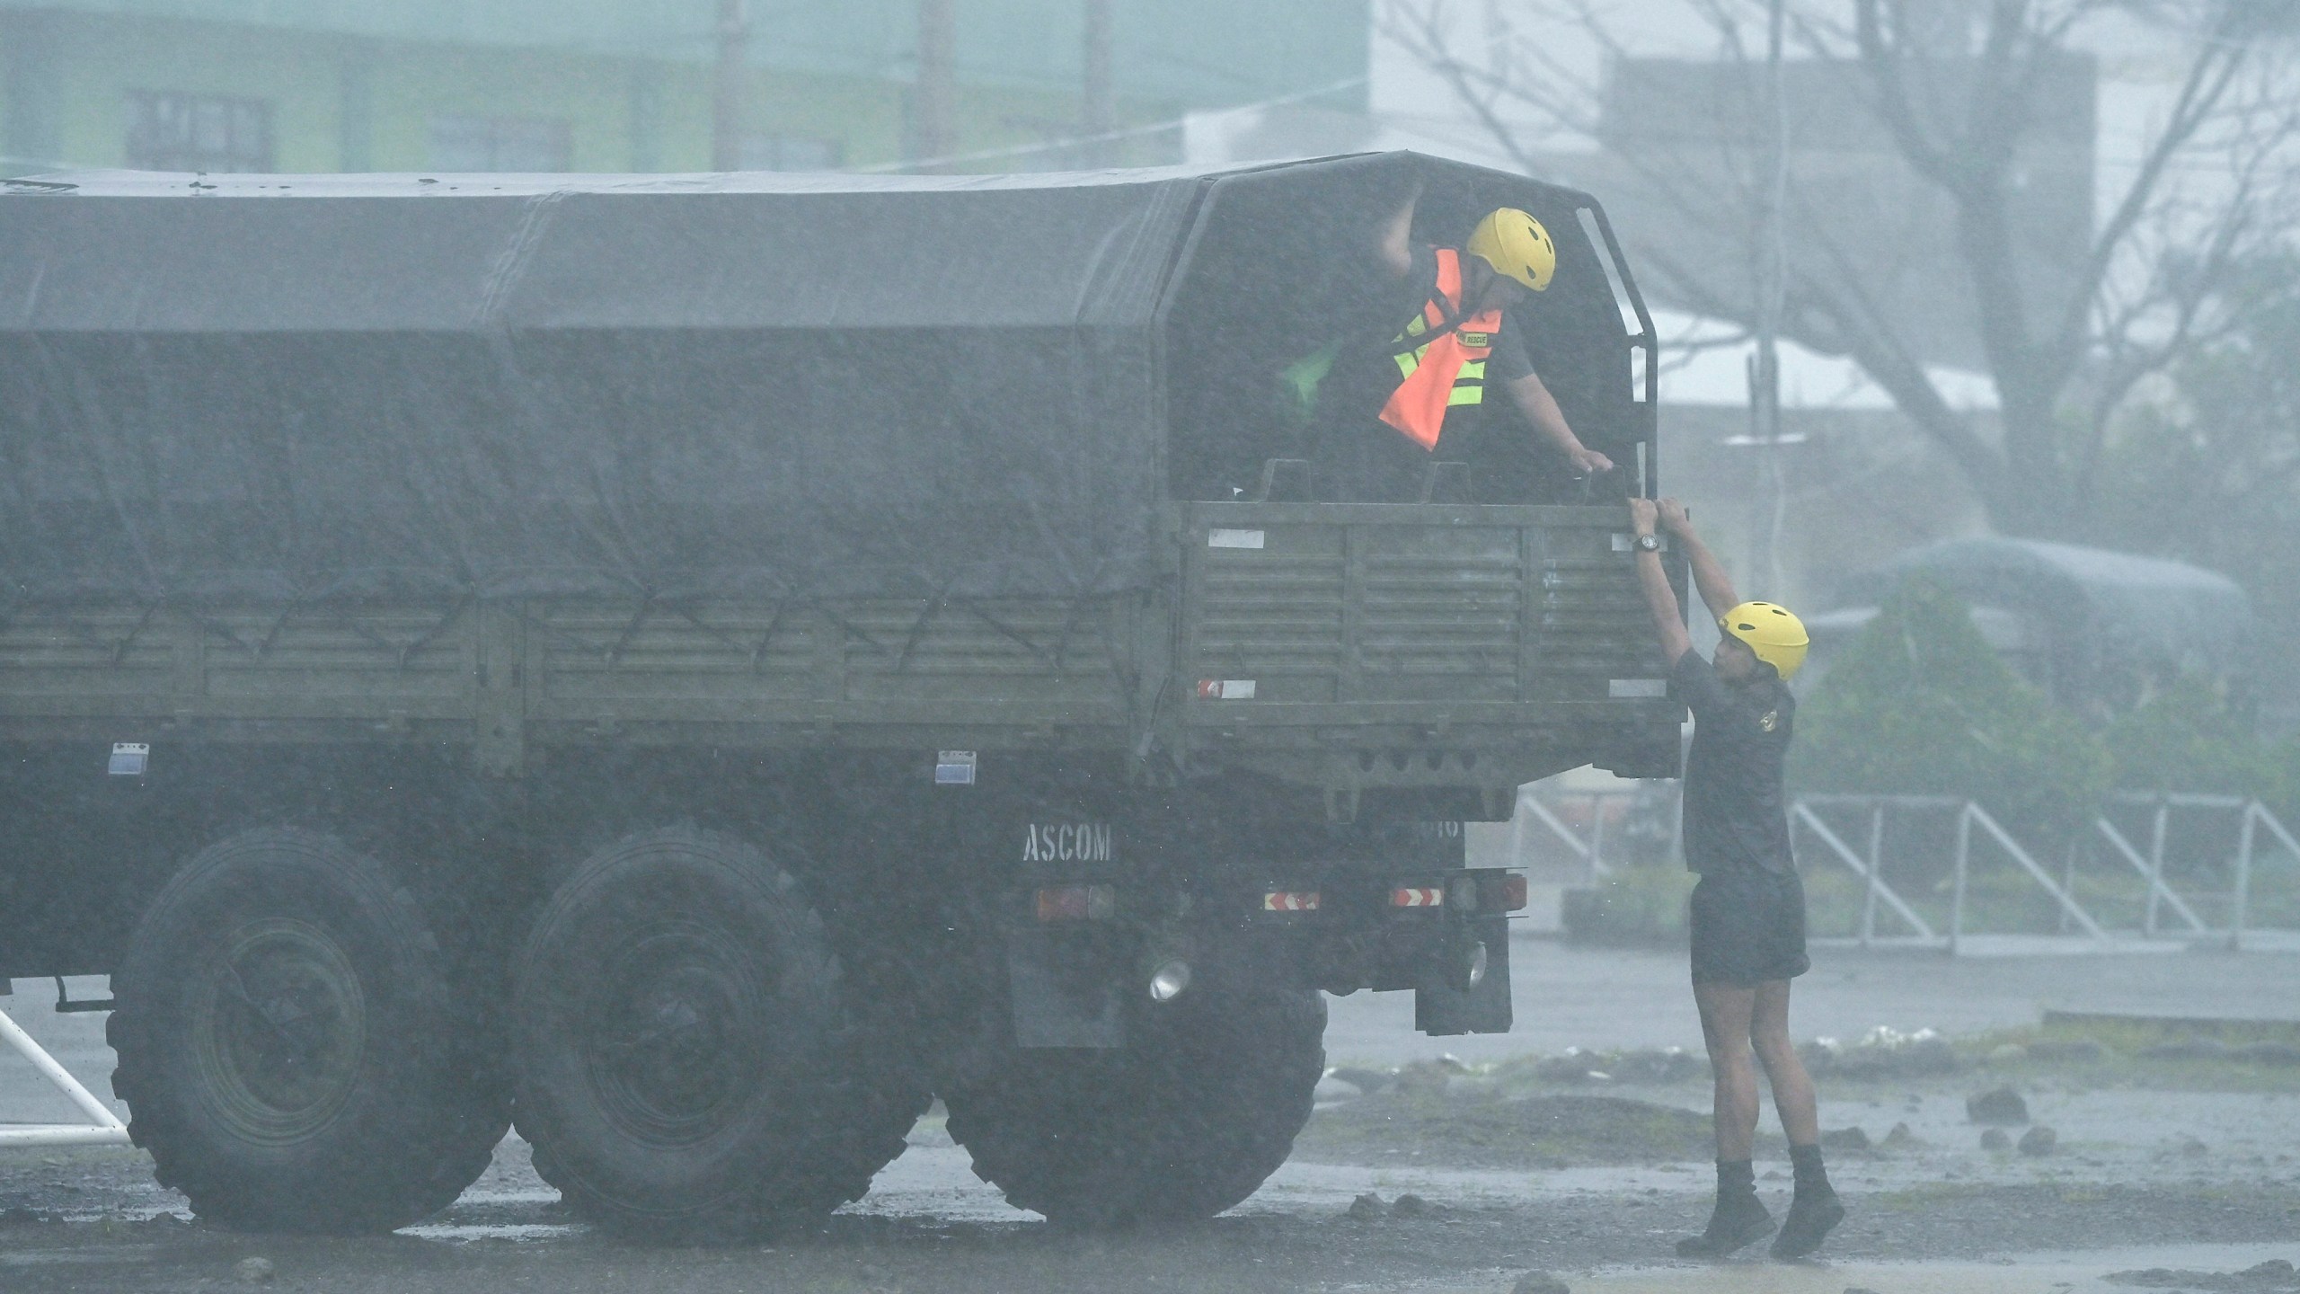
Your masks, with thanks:
M 1686 1045 L 1684 953 L 1585 951 L 1523 942 L 1513 962 L 1520 1032 L 1421 1038 L 1410 999 L 1339 999 L 1329 1052 L 1401 1064 L 1456 1052 L 1474 1073 L 1421 1094 L 1449 1112 L 1518 1098 L 1477 1061 L 1564 1045 Z M 2300 1015 L 2300 958 L 2139 953 L 2123 958 L 1946 960 L 1925 953 L 1822 951 L 1799 988 L 1796 1032 L 1858 1036 L 1872 1025 L 1978 1029 L 2033 1025 L 2042 1008 L 2194 1015 Z M 99 1094 L 110 1057 L 101 1020 L 60 1018 L 34 983 L 7 999 L 21 1022 Z M 101 992 L 101 981 L 76 983 Z M 2180 1071 L 2185 1073 L 2185 1071 Z M 2192 1075 L 2194 1078 L 2194 1075 Z M 1063 1234 L 1007 1207 L 971 1172 L 929 1114 L 869 1197 L 823 1227 L 720 1250 L 614 1243 L 566 1216 L 557 1193 L 506 1140 L 488 1174 L 439 1218 L 377 1239 L 241 1236 L 186 1220 L 184 1200 L 150 1179 L 140 1151 L 0 1151 L 0 1292 L 278 1289 L 313 1292 L 1120 1292 L 1120 1289 L 1396 1289 L 1509 1294 L 1529 1271 L 1575 1292 L 2061 1294 L 2146 1289 L 2111 1273 L 2238 1273 L 2300 1259 L 2300 1078 L 2206 1073 L 2150 1087 L 2022 1071 L 2049 1156 L 1983 1149 L 1964 1096 L 1987 1073 L 1824 1080 L 1824 1128 L 1861 1128 L 1872 1149 L 1833 1154 L 1854 1216 L 1826 1262 L 1762 1257 L 1679 1264 L 1670 1243 L 1700 1227 L 1709 1167 L 1700 1156 L 1624 1154 L 1513 1165 L 1447 1135 L 1320 1135 L 1348 1110 L 1378 1110 L 1329 1080 L 1304 1154 L 1233 1213 L 1198 1227 L 1120 1236 Z M 1603 1082 L 1557 1087 L 1559 1101 L 1610 1098 L 1702 1112 L 1707 1087 Z M 1366 1101 L 1366 1105 L 1352 1105 Z M 1405 1096 L 1392 1096 L 1405 1101 Z M 64 1119 L 28 1066 L 0 1057 L 0 1121 Z M 1677 1114 L 1674 1119 L 1684 1119 Z M 1771 1124 L 1771 1117 L 1766 1117 Z M 1362 1121 L 1364 1124 L 1364 1121 Z M 1902 1131 L 1895 1133 L 1895 1126 Z M 1419 1128 L 1419 1124 L 1417 1124 Z M 2019 1128 L 2015 1128 L 2019 1133 Z M 1311 1149 L 1316 1147 L 1316 1149 Z M 1506 1151 L 1506 1147 L 1504 1147 Z M 1787 1202 L 1778 1140 L 1759 1147 L 1759 1190 Z M 1371 1197 L 1371 1202 L 1364 1202 Z M 260 1262 L 251 1262 L 260 1259 Z M 1529 1285 L 1532 1287 L 1532 1285 Z M 2203 1289 L 2222 1285 L 2169 1285 Z M 2167 1287 L 2167 1289 L 2169 1289 Z M 2224 1285 L 2277 1294 L 2286 1285 Z

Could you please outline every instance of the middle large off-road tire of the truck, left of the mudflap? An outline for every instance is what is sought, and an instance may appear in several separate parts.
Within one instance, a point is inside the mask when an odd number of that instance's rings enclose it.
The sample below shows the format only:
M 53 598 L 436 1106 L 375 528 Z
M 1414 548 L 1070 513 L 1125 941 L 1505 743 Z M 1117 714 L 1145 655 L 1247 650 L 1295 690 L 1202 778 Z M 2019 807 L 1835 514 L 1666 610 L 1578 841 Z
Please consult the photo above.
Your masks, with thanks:
M 821 916 L 761 850 L 628 836 L 559 884 L 513 990 L 536 1172 L 630 1239 L 715 1243 L 869 1190 L 927 1107 L 862 1045 Z

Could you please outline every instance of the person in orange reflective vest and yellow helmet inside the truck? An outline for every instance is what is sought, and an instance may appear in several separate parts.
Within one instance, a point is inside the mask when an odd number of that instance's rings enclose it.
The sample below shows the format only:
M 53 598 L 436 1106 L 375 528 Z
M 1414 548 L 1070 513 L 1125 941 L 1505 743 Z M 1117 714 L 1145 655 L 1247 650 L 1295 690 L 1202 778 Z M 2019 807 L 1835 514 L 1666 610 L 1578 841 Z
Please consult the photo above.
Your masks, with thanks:
M 1479 502 L 1548 502 L 1536 495 L 1557 495 L 1562 479 L 1610 472 L 1612 458 L 1566 426 L 1523 329 L 1511 325 L 1557 274 L 1550 233 L 1532 214 L 1500 207 L 1463 246 L 1426 246 L 1412 239 L 1417 200 L 1392 214 L 1378 249 L 1396 283 L 1385 318 L 1403 327 L 1380 345 L 1350 348 L 1341 364 L 1348 408 L 1329 426 L 1346 440 L 1327 449 L 1336 493 L 1412 502 L 1431 463 L 1458 460 L 1470 465 Z M 1506 401 L 1488 403 L 1488 389 Z

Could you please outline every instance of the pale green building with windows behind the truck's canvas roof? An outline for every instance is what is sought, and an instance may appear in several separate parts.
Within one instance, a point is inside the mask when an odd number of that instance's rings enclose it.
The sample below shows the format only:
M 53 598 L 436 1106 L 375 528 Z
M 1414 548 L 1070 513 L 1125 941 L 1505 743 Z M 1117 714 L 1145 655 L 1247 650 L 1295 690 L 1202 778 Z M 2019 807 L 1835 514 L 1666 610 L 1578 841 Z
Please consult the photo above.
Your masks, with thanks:
M 1175 161 L 1180 129 L 1129 127 L 1267 99 L 1362 111 L 1366 5 L 0 0 L 0 166 Z

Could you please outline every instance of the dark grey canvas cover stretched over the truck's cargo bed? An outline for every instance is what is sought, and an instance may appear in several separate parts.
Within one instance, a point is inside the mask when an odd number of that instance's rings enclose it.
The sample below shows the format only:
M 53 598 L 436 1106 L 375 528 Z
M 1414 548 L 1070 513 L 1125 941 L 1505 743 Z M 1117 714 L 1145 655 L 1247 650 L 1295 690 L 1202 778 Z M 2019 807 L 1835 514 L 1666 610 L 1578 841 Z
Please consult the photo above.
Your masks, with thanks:
M 1592 203 L 1410 154 L 9 182 L 0 580 L 147 606 L 1145 587 L 1168 454 L 1251 435 L 1237 401 L 1350 309 L 1350 249 L 1417 180 L 1433 221 L 1513 200 L 1557 233 L 1550 297 L 1612 332 L 1552 387 L 1608 447 L 1575 391 L 1631 398 L 1631 341 Z

